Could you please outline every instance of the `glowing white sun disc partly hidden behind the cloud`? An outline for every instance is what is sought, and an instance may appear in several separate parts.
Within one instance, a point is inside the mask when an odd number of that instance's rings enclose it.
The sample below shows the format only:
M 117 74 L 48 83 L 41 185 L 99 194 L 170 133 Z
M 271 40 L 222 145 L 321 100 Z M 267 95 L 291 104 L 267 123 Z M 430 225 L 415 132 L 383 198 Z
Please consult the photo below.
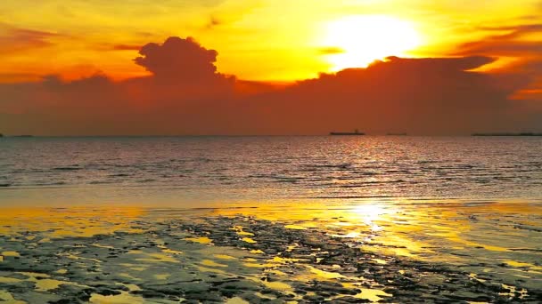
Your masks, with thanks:
M 356 15 L 333 20 L 325 26 L 323 45 L 333 71 L 365 68 L 374 60 L 405 56 L 422 43 L 414 26 L 405 20 L 381 15 Z

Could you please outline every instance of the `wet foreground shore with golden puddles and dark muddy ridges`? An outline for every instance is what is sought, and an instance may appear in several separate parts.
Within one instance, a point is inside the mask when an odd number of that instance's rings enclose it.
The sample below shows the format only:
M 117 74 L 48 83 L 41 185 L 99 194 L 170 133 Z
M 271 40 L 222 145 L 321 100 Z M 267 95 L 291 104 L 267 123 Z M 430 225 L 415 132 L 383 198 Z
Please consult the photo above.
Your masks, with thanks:
M 0 302 L 540 302 L 542 203 L 0 207 Z

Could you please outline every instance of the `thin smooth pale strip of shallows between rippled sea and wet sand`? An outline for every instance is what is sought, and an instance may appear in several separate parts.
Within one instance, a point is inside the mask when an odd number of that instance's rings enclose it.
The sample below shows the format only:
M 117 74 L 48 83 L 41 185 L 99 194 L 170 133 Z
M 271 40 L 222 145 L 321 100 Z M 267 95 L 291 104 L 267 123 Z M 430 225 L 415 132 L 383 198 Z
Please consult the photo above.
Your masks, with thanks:
M 318 206 L 349 204 L 538 204 L 542 198 L 537 195 L 518 196 L 263 196 L 267 189 L 242 188 L 171 188 L 119 187 L 119 186 L 40 186 L 0 187 L 0 208 L 25 206 L 40 207 L 108 207 L 137 206 L 143 208 L 191 209 L 200 207 L 223 208 L 226 206 L 250 206 L 266 204 L 316 204 Z M 260 194 L 260 196 L 258 196 Z M 290 193 L 288 193 L 289 195 Z

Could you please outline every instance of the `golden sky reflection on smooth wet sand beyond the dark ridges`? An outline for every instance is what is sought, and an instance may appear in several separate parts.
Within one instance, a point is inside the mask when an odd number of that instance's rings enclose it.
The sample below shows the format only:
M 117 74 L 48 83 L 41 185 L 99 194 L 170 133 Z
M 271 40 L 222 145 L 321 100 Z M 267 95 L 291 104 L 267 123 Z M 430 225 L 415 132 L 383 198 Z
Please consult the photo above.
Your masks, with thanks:
M 92 236 L 132 229 L 134 220 L 197 220 L 205 216 L 254 216 L 288 229 L 321 231 L 364 252 L 406 256 L 415 260 L 466 265 L 474 273 L 498 272 L 498 276 L 542 279 L 538 262 L 542 234 L 540 203 L 463 203 L 338 200 L 222 204 L 210 209 L 157 209 L 144 207 L 93 206 L 78 208 L 2 207 L 0 233 L 25 242 L 27 231 L 40 231 L 40 238 Z M 257 236 L 245 235 L 245 242 Z M 249 238 L 250 236 L 250 238 Z M 33 237 L 33 236 L 30 236 Z M 45 242 L 44 241 L 44 242 Z M 507 265 L 506 268 L 499 267 Z M 478 269 L 476 265 L 483 265 Z M 472 268 L 472 269 L 471 269 Z

